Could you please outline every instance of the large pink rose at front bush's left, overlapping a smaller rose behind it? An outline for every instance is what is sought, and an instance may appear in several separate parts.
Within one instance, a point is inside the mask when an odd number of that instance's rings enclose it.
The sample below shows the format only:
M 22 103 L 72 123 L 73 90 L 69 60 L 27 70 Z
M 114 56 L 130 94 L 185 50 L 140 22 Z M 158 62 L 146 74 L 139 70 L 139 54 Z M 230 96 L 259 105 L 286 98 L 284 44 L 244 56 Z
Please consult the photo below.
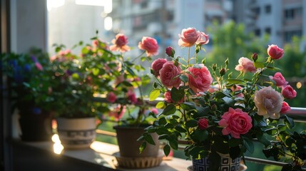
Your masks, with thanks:
M 180 68 L 175 66 L 173 61 L 167 61 L 159 71 L 160 81 L 167 88 L 178 87 L 180 86 L 179 74 Z

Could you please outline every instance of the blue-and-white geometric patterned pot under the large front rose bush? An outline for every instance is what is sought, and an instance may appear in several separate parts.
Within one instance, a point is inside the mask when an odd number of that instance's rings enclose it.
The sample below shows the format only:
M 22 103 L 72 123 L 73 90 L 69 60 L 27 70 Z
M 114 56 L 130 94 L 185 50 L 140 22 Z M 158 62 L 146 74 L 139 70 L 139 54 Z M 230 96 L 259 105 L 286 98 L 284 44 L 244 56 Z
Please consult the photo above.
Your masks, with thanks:
M 222 155 L 220 162 L 220 171 L 239 171 L 241 158 L 231 159 L 230 155 Z M 193 171 L 208 171 L 210 161 L 208 157 L 200 160 L 193 159 Z

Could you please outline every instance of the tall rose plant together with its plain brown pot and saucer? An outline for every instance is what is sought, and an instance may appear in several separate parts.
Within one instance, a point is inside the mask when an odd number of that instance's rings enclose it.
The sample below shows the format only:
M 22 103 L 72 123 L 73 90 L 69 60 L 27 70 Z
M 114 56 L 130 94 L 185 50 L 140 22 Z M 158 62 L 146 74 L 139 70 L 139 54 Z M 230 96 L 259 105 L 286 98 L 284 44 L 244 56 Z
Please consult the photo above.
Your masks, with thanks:
M 151 78 L 143 72 L 145 68 L 141 63 L 151 61 L 151 56 L 158 54 L 158 43 L 154 38 L 144 36 L 138 43 L 138 48 L 143 50 L 143 53 L 136 58 L 124 56 L 131 48 L 128 46 L 128 38 L 122 33 L 118 33 L 112 43 L 110 50 L 119 51 L 120 54 L 115 55 L 116 60 L 111 62 L 116 63 L 116 66 L 106 63 L 109 68 L 108 75 L 113 76 L 113 89 L 108 91 L 106 99 L 108 103 L 116 103 L 116 110 L 111 110 L 110 113 L 118 120 L 118 125 L 114 127 L 120 148 L 118 163 L 121 167 L 133 168 L 159 165 L 162 156 L 159 154 L 158 136 L 148 136 L 148 141 L 153 145 L 148 145 L 141 154 L 138 147 L 142 142 L 137 142 L 144 133 L 144 128 L 153 123 L 153 117 L 150 115 L 156 113 L 144 100 L 146 93 L 143 89 L 151 82 Z M 145 53 L 146 56 L 143 56 Z M 122 118 L 125 111 L 128 117 Z

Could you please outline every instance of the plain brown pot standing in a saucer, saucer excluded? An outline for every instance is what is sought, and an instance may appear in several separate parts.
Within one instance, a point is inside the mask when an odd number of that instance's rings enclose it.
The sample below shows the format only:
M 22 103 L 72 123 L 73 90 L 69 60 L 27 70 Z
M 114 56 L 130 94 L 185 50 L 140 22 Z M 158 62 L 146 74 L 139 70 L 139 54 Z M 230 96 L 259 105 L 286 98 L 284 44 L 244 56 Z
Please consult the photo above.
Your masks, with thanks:
M 137 139 L 144 133 L 144 128 L 115 126 L 121 157 L 157 157 L 159 140 L 157 134 L 152 134 L 155 145 L 147 143 L 146 149 L 139 153 L 142 142 Z

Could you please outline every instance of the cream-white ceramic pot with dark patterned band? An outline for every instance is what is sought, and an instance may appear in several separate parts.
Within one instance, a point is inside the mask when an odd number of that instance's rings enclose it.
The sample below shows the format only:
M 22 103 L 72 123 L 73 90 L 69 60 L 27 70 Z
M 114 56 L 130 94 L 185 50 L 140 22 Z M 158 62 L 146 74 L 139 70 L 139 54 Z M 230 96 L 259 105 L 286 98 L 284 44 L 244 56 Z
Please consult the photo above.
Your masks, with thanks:
M 96 140 L 96 118 L 57 118 L 56 121 L 64 148 L 87 148 Z

